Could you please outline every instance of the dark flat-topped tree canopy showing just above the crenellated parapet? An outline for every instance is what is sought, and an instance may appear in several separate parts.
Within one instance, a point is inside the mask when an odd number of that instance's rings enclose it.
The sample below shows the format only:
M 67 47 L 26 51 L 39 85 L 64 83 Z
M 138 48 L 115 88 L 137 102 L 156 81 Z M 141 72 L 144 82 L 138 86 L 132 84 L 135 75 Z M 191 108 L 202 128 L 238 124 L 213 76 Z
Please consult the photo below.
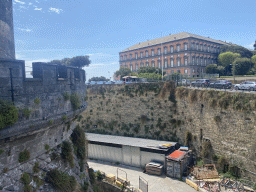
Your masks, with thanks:
M 89 56 L 85 55 L 85 56 L 76 56 L 76 57 L 72 57 L 72 58 L 64 58 L 61 60 L 52 60 L 49 63 L 82 68 L 85 66 L 89 66 L 91 61 L 89 59 Z

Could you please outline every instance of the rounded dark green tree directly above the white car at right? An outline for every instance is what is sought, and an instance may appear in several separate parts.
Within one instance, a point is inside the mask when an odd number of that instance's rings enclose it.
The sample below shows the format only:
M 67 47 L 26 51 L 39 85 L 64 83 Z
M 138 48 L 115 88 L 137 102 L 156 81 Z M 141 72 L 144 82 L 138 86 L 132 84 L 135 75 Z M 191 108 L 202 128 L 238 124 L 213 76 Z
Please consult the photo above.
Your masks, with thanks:
M 234 65 L 236 75 L 246 75 L 253 68 L 254 63 L 248 58 L 236 58 Z

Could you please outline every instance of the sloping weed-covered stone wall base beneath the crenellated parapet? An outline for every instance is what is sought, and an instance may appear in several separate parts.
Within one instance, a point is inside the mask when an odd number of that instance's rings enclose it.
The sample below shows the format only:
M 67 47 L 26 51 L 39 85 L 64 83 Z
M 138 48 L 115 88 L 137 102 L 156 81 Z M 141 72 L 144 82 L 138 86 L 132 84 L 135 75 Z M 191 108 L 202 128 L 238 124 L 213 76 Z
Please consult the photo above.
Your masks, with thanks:
M 75 127 L 75 122 L 67 122 L 1 140 L 0 188 L 3 191 L 82 191 L 88 185 L 88 191 L 92 191 L 87 162 L 78 158 L 77 148 L 71 141 Z M 51 173 L 51 170 L 57 171 Z M 51 175 L 59 181 L 51 180 Z M 64 177 L 65 182 L 59 179 Z

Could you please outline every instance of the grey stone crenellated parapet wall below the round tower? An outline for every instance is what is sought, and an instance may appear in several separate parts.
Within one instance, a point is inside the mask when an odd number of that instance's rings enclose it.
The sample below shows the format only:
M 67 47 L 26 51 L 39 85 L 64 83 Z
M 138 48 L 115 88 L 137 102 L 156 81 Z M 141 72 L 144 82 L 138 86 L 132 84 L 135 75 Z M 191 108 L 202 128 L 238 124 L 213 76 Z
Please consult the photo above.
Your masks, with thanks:
M 32 65 L 33 78 L 26 78 L 24 61 L 0 59 L 0 99 L 13 101 L 19 110 L 18 122 L 0 130 L 0 136 L 7 129 L 29 131 L 28 127 L 38 127 L 38 122 L 72 117 L 76 110 L 64 94 L 76 94 L 80 110 L 86 106 L 83 69 L 42 62 Z

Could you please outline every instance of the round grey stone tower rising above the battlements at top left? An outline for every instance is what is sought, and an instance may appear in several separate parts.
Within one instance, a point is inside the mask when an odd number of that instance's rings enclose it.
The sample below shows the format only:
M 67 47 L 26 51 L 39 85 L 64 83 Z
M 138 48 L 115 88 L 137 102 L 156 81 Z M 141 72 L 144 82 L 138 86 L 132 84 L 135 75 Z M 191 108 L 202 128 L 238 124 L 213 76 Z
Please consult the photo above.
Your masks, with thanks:
M 0 1 L 0 59 L 15 59 L 12 0 Z

